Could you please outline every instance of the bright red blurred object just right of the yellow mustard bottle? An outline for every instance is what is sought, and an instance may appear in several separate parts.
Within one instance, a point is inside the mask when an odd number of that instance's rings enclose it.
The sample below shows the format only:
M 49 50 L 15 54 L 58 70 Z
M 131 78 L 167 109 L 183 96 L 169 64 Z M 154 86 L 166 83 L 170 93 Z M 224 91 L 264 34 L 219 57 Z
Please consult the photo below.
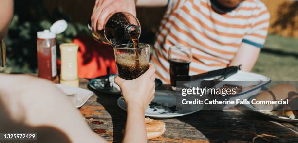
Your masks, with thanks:
M 92 38 L 76 38 L 74 43 L 79 45 L 77 54 L 79 78 L 93 79 L 107 75 L 107 67 L 110 67 L 110 74 L 117 73 L 114 50 L 111 46 L 98 43 Z

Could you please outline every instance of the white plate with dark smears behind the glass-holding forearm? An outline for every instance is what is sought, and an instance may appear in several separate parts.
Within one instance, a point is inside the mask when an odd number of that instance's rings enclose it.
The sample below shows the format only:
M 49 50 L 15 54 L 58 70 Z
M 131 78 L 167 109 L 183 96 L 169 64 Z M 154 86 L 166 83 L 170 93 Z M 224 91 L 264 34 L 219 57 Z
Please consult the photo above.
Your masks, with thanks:
M 157 91 L 150 105 L 152 105 L 152 103 L 157 103 L 163 106 L 158 106 L 158 108 L 149 106 L 145 111 L 145 116 L 156 119 L 168 119 L 188 115 L 200 111 L 203 108 L 203 105 L 197 105 L 195 106 L 195 109 L 174 111 L 176 106 L 176 97 L 173 95 L 174 93 L 175 92 L 171 91 Z M 121 109 L 126 110 L 126 104 L 121 97 L 118 99 L 117 104 Z M 169 111 L 169 109 L 173 110 Z

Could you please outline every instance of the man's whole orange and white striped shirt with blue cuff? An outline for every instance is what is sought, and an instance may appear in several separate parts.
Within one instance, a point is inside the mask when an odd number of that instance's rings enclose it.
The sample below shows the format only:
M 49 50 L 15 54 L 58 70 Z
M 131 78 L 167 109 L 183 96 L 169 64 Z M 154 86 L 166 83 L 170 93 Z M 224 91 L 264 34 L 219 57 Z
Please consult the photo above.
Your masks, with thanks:
M 259 0 L 245 0 L 235 10 L 219 14 L 210 0 L 173 0 L 157 34 L 152 56 L 156 77 L 170 83 L 168 49 L 192 48 L 189 75 L 227 67 L 242 42 L 262 48 L 270 15 Z

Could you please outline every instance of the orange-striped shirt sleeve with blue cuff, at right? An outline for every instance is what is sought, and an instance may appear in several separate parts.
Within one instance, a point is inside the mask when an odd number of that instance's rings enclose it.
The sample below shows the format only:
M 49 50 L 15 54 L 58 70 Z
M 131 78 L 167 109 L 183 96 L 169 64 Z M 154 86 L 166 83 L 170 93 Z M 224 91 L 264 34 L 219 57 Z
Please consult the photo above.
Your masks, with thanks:
M 270 14 L 263 3 L 254 13 L 255 15 L 250 18 L 250 26 L 242 42 L 263 48 L 268 34 Z

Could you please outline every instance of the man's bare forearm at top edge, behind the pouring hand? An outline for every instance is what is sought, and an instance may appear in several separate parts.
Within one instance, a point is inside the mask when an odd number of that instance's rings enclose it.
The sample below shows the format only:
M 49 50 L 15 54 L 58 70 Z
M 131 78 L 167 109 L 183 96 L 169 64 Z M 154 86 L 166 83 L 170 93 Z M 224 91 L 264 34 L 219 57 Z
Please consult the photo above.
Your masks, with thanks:
M 162 7 L 171 1 L 173 0 L 135 0 L 135 4 L 139 7 Z

